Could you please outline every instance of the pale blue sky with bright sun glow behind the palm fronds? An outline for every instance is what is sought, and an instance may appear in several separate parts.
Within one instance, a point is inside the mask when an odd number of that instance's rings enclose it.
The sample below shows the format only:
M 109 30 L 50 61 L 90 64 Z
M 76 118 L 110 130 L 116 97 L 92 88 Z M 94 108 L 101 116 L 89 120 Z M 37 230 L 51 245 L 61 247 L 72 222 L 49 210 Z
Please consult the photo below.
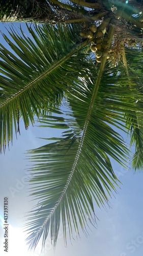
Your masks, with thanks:
M 26 27 L 22 24 L 24 31 Z M 6 32 L 7 24 L 0 23 L 0 30 Z M 0 34 L 1 43 L 5 44 Z M 26 150 L 44 144 L 38 137 L 54 137 L 60 135 L 55 130 L 39 127 L 30 127 L 27 131 L 20 123 L 21 135 L 13 138 L 13 145 L 0 155 L 0 255 L 1 256 L 142 256 L 143 253 L 143 173 L 134 174 L 129 168 L 126 170 L 112 161 L 113 170 L 122 182 L 118 194 L 110 199 L 110 208 L 99 209 L 95 204 L 97 220 L 96 228 L 91 226 L 89 236 L 81 232 L 80 239 L 68 240 L 67 248 L 64 245 L 62 229 L 53 251 L 50 239 L 47 238 L 45 250 L 41 252 L 41 243 L 35 252 L 27 250 L 24 242 L 25 233 L 22 225 L 25 221 L 25 212 L 34 205 L 28 197 L 26 169 L 30 164 L 26 159 Z M 46 143 L 46 142 L 45 142 Z M 4 198 L 8 198 L 8 252 L 4 251 Z M 72 244 L 71 244 L 72 242 Z

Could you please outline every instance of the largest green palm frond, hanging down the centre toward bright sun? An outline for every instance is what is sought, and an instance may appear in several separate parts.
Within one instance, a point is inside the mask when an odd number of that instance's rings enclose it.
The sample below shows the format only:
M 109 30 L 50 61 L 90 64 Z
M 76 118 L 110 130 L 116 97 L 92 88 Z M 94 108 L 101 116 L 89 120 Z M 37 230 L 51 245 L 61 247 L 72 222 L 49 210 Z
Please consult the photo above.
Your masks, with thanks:
M 78 236 L 79 226 L 87 233 L 89 222 L 94 225 L 96 221 L 93 202 L 104 207 L 119 186 L 110 158 L 126 166 L 130 151 L 116 129 L 125 130 L 123 113 L 136 111 L 138 117 L 142 115 L 135 104 L 142 94 L 140 85 L 129 87 L 126 74 L 117 75 L 124 67 L 102 70 L 102 63 L 99 72 L 91 67 L 87 76 L 69 88 L 69 117 L 58 124 L 63 127 L 65 122 L 64 128 L 67 125 L 63 137 L 51 138 L 56 141 L 30 151 L 31 161 L 37 162 L 30 169 L 31 195 L 39 200 L 38 209 L 27 215 L 27 243 L 31 249 L 42 235 L 44 246 L 48 232 L 55 247 L 61 222 L 65 242 L 66 224 L 70 238 L 73 231 Z M 58 118 L 52 124 L 55 128 Z M 45 116 L 44 122 L 51 126 L 50 117 Z

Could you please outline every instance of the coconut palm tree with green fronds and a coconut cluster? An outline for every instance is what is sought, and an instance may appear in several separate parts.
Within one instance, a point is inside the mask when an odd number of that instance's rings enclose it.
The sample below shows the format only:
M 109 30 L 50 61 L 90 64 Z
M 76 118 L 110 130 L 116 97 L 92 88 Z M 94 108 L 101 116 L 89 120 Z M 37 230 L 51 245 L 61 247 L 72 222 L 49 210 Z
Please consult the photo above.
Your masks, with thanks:
M 13 126 L 20 131 L 20 118 L 25 127 L 37 118 L 63 130 L 29 151 L 36 162 L 29 170 L 31 195 L 39 200 L 27 214 L 31 249 L 42 236 L 44 246 L 49 232 L 55 247 L 61 222 L 65 243 L 66 224 L 70 238 L 95 224 L 93 202 L 106 207 L 120 184 L 110 159 L 126 166 L 130 158 L 120 130 L 135 144 L 133 168 L 142 169 L 141 25 L 134 25 L 136 16 L 109 13 L 102 23 L 27 26 L 28 36 L 12 27 L 3 35 L 12 51 L 0 44 L 1 151 Z

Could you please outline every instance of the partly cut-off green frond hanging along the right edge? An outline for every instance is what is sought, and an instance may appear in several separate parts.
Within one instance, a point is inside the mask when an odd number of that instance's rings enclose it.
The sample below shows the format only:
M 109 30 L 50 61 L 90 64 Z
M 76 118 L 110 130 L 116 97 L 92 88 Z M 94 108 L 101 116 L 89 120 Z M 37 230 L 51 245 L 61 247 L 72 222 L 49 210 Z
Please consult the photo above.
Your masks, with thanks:
M 132 114 L 126 114 L 126 129 L 130 133 L 130 145 L 135 144 L 135 153 L 132 158 L 132 168 L 136 171 L 143 167 L 143 126 L 142 126 L 142 82 L 143 82 L 143 55 L 141 48 L 128 48 L 126 50 L 126 73 L 130 89 L 137 86 L 140 97 L 134 95 L 135 108 Z M 123 72 L 120 74 L 123 75 Z M 140 110 L 140 111 L 139 111 Z

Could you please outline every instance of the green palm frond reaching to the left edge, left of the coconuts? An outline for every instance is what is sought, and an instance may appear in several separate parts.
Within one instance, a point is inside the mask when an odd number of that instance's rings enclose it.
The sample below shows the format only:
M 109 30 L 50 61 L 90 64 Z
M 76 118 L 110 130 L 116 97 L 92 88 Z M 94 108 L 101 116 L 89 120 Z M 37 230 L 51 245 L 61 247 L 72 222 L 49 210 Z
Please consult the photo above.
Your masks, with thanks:
M 19 132 L 19 119 L 25 127 L 34 123 L 43 109 L 58 106 L 68 88 L 76 82 L 85 57 L 72 49 L 79 26 L 43 26 L 32 29 L 26 36 L 22 29 L 11 28 L 4 35 L 12 51 L 0 44 L 0 151 Z M 76 66 L 75 66 L 76 63 Z M 66 78 L 66 79 L 65 79 Z M 74 78 L 74 79 L 73 79 Z

